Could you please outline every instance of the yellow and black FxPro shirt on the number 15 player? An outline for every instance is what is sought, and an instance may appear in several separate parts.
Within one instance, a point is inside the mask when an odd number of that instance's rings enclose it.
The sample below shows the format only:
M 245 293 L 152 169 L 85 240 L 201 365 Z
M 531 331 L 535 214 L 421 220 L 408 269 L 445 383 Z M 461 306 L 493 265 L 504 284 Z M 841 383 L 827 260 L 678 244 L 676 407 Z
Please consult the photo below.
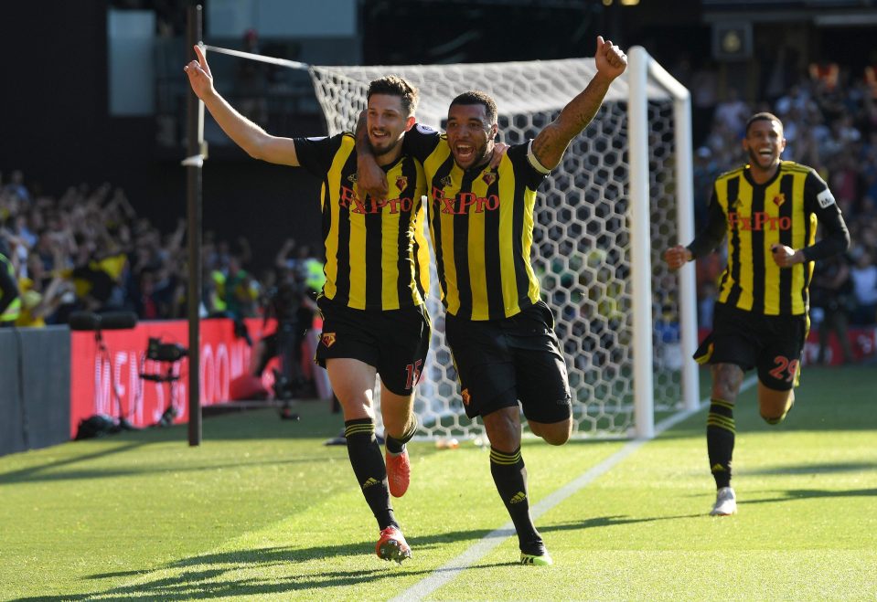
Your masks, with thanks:
M 429 290 L 429 251 L 423 231 L 421 164 L 409 155 L 384 167 L 385 202 L 360 198 L 353 134 L 296 138 L 299 163 L 323 179 L 323 295 L 357 310 L 421 305 Z

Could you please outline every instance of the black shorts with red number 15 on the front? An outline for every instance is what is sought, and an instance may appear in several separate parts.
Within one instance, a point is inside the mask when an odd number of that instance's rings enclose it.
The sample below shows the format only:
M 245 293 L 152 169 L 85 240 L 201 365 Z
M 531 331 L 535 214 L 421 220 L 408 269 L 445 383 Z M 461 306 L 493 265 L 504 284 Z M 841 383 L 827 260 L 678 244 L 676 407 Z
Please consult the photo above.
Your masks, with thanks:
M 323 333 L 316 363 L 352 358 L 373 366 L 392 393 L 411 395 L 420 379 L 432 327 L 423 306 L 401 310 L 354 310 L 325 297 L 317 301 Z

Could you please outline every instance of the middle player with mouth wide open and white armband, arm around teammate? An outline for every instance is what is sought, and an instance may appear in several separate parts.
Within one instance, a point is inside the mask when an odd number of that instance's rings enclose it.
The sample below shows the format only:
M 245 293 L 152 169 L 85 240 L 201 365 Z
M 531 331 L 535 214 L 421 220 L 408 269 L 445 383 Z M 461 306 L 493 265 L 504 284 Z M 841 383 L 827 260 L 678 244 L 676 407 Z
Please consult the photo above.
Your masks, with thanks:
M 405 152 L 426 172 L 430 234 L 442 287 L 445 335 L 469 417 L 480 416 L 490 440 L 490 469 L 518 532 L 520 561 L 551 564 L 529 518 L 520 409 L 530 430 L 561 445 L 572 430 L 570 386 L 554 318 L 540 301 L 530 265 L 536 190 L 561 162 L 572 139 L 600 108 L 626 55 L 597 38 L 596 74 L 533 140 L 488 163 L 497 135 L 497 105 L 472 90 L 452 100 L 447 132 L 415 126 Z M 362 143 L 362 137 L 358 137 Z M 360 156 L 360 183 L 380 188 L 380 172 Z M 374 174 L 371 180 L 370 174 Z

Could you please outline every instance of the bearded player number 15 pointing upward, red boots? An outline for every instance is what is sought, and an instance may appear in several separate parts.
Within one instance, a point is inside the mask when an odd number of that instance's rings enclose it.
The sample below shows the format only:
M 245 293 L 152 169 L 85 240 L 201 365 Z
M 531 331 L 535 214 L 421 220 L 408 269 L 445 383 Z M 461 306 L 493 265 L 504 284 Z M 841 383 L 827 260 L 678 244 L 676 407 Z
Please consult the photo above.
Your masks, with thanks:
M 373 198 L 357 185 L 354 138 L 272 136 L 235 111 L 213 87 L 201 48 L 186 66 L 192 90 L 230 138 L 252 157 L 302 165 L 323 180 L 326 285 L 318 304 L 323 333 L 316 361 L 325 365 L 344 411 L 344 435 L 358 486 L 378 522 L 376 554 L 401 562 L 411 546 L 396 522 L 390 494 L 408 489 L 407 443 L 417 421 L 414 385 L 429 346 L 430 322 L 423 297 L 428 262 L 422 233 L 423 170 L 402 154 L 402 137 L 414 124 L 417 90 L 388 76 L 369 84 L 369 152 L 390 176 L 390 195 Z M 386 463 L 375 437 L 372 390 L 381 381 Z

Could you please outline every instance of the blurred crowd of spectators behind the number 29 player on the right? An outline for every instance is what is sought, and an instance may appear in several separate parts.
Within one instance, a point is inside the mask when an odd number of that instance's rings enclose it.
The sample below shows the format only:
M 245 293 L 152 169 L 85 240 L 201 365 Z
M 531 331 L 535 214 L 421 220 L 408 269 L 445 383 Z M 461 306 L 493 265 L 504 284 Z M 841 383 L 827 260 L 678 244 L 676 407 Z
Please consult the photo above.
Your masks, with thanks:
M 698 136 L 694 159 L 699 226 L 716 176 L 747 161 L 740 142 L 743 125 L 757 111 L 773 112 L 783 121 L 787 141 L 783 158 L 815 168 L 829 183 L 852 244 L 837 261 L 818 262 L 811 286 L 811 318 L 822 331 L 837 331 L 842 342 L 848 340 L 848 325 L 877 322 L 877 83 L 866 77 L 866 71 L 812 66 L 773 98 L 747 103 L 737 90 L 729 89 L 723 100 L 695 108 L 701 121 L 709 123 Z M 722 268 L 723 258 L 717 254 L 698 262 L 701 328 L 711 327 Z M 843 354 L 845 361 L 851 361 L 846 344 Z

